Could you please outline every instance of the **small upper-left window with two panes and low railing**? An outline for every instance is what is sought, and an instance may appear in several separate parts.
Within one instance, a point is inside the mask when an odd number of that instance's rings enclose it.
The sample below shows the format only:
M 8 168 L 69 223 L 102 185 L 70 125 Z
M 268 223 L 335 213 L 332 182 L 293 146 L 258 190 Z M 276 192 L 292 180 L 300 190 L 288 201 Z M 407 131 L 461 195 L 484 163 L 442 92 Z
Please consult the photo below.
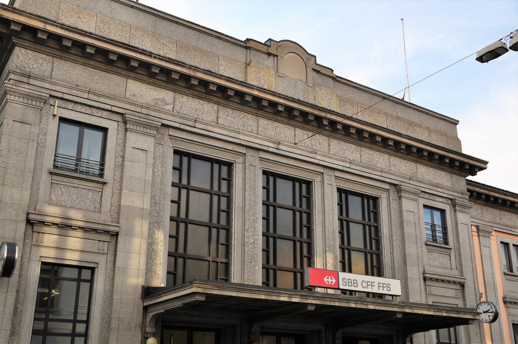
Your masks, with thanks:
M 54 168 L 102 177 L 106 130 L 60 120 L 57 127 Z

